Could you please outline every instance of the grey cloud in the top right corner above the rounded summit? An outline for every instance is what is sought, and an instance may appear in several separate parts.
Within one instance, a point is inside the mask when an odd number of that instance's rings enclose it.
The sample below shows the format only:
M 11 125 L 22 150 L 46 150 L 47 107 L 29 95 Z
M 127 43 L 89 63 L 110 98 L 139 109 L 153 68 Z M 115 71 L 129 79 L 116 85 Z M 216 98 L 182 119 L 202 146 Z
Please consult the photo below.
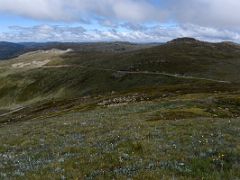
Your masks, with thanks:
M 239 0 L 169 0 L 169 14 L 179 23 L 217 28 L 238 28 Z

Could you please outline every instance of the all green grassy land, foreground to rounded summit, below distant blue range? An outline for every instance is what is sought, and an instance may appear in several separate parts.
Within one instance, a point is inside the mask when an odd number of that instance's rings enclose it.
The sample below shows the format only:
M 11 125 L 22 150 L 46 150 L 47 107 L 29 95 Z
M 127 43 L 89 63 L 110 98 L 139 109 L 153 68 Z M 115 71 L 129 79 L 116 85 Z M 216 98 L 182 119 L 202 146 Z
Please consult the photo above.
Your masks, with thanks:
M 0 63 L 0 179 L 240 178 L 238 45 L 96 46 Z

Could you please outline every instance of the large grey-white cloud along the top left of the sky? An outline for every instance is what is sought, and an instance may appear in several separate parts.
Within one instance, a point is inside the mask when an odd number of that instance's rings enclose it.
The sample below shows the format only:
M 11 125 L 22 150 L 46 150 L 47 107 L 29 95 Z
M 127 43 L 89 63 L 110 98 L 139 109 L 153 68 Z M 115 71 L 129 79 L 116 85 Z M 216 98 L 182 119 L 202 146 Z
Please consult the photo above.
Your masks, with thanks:
M 90 20 L 100 16 L 140 22 L 165 16 L 147 0 L 0 0 L 0 11 L 52 21 Z

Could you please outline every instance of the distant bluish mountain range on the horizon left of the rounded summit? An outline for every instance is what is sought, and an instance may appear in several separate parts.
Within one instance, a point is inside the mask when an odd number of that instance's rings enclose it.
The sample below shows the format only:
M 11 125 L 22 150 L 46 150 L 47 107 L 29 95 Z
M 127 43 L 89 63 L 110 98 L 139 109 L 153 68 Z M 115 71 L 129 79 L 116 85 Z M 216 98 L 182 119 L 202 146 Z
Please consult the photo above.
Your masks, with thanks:
M 129 42 L 99 42 L 99 43 L 72 43 L 72 42 L 0 42 L 0 60 L 7 60 L 17 57 L 26 52 L 49 49 L 73 49 L 75 51 L 101 51 L 101 52 L 122 52 L 129 50 L 152 47 L 161 43 L 136 44 Z

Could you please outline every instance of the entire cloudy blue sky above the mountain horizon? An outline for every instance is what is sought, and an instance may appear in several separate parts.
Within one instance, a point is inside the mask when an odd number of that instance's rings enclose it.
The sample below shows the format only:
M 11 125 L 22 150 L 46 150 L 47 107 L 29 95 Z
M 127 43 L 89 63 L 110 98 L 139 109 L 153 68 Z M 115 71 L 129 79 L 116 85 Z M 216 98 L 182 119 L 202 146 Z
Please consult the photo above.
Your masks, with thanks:
M 240 0 L 0 0 L 0 41 L 240 43 Z

